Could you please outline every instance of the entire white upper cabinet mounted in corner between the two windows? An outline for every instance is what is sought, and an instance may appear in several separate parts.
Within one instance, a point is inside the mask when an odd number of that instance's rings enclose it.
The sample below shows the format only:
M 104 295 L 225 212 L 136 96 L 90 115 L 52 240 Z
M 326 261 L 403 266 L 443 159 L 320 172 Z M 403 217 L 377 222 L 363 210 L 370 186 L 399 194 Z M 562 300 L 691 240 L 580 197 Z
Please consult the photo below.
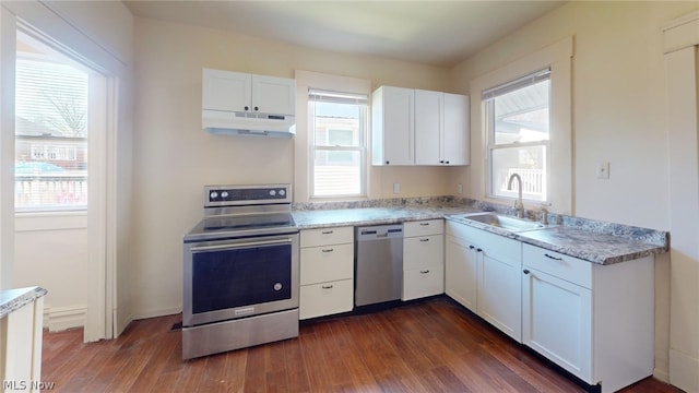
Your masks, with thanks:
M 371 104 L 374 165 L 469 164 L 469 97 L 381 86 Z

